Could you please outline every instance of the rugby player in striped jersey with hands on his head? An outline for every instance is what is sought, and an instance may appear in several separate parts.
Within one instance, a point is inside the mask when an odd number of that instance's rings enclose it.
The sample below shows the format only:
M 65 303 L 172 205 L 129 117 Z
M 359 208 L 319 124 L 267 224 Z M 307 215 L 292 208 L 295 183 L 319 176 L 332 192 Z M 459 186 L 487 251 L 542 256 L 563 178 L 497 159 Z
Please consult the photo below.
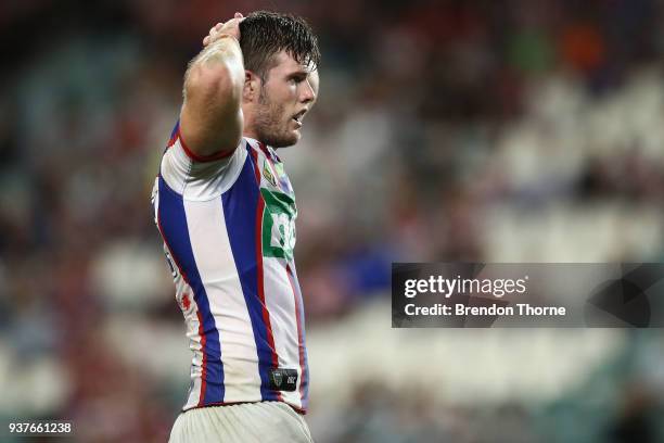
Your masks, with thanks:
M 170 442 L 311 442 L 293 257 L 297 208 L 277 149 L 318 96 L 320 51 L 301 17 L 235 13 L 203 39 L 153 190 L 193 352 Z

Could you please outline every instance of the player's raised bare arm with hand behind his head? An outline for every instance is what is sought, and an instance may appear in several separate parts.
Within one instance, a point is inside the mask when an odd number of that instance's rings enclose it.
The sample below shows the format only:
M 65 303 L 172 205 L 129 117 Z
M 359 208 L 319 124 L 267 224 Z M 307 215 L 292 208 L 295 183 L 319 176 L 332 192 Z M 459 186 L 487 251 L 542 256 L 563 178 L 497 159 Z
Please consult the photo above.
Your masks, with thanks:
M 244 63 L 240 43 L 242 14 L 217 24 L 203 40 L 184 75 L 180 134 L 202 157 L 232 152 L 242 137 Z

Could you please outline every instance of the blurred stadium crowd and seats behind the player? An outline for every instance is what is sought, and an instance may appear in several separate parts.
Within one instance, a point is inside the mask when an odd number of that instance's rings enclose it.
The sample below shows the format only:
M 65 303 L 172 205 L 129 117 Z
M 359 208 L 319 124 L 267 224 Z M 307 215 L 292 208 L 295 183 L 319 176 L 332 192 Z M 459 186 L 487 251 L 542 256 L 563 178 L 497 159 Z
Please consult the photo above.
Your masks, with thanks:
M 256 9 L 323 52 L 283 155 L 316 441 L 663 441 L 660 330 L 392 330 L 388 295 L 393 261 L 662 261 L 657 0 L 3 1 L 1 422 L 166 441 L 190 355 L 150 189 L 186 63 Z

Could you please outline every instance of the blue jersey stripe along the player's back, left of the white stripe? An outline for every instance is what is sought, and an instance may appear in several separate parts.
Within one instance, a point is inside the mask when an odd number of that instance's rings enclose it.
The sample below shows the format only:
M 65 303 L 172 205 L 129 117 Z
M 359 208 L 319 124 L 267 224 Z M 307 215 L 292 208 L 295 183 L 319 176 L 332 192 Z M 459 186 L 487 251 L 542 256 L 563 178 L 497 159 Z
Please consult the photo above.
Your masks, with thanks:
M 203 318 L 205 334 L 206 377 L 203 404 L 224 402 L 224 363 L 219 345 L 219 330 L 209 311 L 205 287 L 191 249 L 184 202 L 159 176 L 159 225 L 170 254 L 184 274 L 182 277 L 194 291 L 194 301 Z

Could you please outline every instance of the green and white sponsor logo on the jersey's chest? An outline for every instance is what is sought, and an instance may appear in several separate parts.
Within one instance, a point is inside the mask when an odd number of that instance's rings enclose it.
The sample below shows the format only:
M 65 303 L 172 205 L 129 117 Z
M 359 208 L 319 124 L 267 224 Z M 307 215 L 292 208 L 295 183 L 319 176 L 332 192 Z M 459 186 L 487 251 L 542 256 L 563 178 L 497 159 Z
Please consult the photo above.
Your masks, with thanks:
M 266 257 L 293 258 L 295 248 L 295 198 L 282 192 L 261 188 L 265 200 L 263 211 L 263 255 Z

